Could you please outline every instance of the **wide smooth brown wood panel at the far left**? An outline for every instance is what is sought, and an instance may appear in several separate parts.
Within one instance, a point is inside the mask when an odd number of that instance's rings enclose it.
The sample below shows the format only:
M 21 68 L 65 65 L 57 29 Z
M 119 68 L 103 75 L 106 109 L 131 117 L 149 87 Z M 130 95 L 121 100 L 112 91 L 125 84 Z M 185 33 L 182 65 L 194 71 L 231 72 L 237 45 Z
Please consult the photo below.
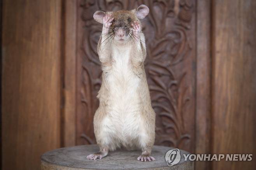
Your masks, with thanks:
M 60 147 L 61 1 L 4 0 L 2 169 L 40 169 Z

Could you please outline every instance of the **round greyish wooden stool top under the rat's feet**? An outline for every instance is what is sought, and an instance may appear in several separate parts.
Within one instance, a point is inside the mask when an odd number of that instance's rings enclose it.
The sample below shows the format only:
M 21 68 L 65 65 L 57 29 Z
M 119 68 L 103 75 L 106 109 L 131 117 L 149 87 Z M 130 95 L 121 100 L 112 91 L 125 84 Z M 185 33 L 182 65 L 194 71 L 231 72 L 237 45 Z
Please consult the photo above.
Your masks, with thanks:
M 97 145 L 64 147 L 49 151 L 41 156 L 41 170 L 92 170 L 92 169 L 152 169 L 152 170 L 193 170 L 194 162 L 184 161 L 180 150 L 181 160 L 178 164 L 168 167 L 165 154 L 171 147 L 154 146 L 152 156 L 156 161 L 138 161 L 141 151 L 117 150 L 97 160 L 88 160 L 86 156 L 99 151 Z

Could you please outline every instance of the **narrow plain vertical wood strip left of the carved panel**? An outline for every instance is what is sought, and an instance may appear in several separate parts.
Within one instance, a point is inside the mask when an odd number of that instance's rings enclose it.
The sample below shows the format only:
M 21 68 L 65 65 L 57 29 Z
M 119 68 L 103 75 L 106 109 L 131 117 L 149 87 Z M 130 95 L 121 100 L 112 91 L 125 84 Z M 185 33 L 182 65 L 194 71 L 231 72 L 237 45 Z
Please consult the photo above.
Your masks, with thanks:
M 65 0 L 64 11 L 64 97 L 62 143 L 75 146 L 76 113 L 76 21 L 77 0 Z

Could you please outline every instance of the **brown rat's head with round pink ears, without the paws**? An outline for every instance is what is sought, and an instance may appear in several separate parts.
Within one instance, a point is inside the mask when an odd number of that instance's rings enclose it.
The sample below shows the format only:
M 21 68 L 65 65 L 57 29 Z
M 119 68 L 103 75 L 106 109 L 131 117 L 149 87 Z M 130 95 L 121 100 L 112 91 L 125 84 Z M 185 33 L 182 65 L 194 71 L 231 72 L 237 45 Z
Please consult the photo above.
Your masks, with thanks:
M 106 15 L 114 18 L 109 26 L 110 35 L 113 33 L 116 42 L 124 43 L 134 37 L 132 35 L 132 25 L 135 23 L 140 24 L 140 19 L 146 17 L 148 13 L 149 8 L 146 5 L 140 5 L 137 9 L 133 10 L 119 10 L 116 12 L 96 11 L 93 18 L 102 24 L 104 24 L 103 17 Z

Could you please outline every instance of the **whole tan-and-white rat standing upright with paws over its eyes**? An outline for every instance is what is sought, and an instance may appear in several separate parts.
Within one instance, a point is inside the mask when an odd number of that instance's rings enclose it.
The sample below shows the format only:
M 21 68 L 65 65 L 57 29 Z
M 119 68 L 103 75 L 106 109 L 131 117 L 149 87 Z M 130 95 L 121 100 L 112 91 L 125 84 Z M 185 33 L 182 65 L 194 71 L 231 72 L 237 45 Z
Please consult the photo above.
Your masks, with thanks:
M 137 160 L 155 160 L 151 150 L 156 114 L 144 69 L 146 44 L 140 23 L 148 13 L 149 8 L 140 5 L 133 10 L 93 14 L 103 24 L 97 47 L 103 71 L 97 95 L 100 105 L 93 121 L 100 151 L 88 155 L 87 159 L 102 159 L 109 151 L 124 147 L 141 149 Z

